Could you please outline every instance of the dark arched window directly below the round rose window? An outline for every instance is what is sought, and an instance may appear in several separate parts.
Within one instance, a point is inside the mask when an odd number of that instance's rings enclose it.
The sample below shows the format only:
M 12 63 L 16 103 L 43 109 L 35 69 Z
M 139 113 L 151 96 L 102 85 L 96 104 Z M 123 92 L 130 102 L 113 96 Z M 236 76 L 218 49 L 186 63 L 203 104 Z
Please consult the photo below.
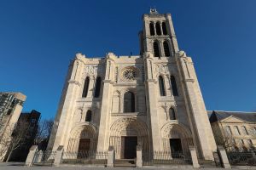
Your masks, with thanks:
M 124 95 L 124 112 L 135 112 L 135 96 L 132 92 L 126 92 Z

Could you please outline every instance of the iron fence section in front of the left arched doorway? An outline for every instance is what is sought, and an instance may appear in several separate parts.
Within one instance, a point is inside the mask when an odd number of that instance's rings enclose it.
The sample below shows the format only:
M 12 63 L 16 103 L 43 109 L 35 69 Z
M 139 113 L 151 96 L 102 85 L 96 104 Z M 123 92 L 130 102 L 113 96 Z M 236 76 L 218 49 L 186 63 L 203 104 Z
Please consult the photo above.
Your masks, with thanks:
M 107 165 L 108 151 L 64 152 L 61 163 L 66 164 L 100 164 Z

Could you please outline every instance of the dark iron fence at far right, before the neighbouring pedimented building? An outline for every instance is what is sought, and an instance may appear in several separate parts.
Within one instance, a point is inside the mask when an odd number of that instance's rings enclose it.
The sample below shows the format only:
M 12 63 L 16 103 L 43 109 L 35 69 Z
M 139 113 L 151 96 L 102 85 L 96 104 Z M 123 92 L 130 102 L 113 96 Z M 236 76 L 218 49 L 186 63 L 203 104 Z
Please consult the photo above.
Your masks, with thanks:
M 252 152 L 227 152 L 231 165 L 256 166 L 256 155 Z

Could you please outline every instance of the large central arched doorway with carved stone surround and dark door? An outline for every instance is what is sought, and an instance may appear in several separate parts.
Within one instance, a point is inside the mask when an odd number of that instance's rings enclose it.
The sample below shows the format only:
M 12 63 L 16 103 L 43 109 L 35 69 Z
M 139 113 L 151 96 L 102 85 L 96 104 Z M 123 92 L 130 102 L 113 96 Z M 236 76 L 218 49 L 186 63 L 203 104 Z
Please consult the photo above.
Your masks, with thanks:
M 148 150 L 147 125 L 136 117 L 120 118 L 110 127 L 109 145 L 113 145 L 116 159 L 136 157 L 136 147 Z

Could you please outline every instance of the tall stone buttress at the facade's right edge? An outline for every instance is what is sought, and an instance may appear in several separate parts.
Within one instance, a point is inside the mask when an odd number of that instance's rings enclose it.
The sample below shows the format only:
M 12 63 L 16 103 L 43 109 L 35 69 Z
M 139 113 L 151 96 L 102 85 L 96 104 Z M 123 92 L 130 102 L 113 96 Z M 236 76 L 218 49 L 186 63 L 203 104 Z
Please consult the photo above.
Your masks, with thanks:
M 181 89 L 183 90 L 195 149 L 201 159 L 213 160 L 212 151 L 216 150 L 217 146 L 192 59 L 187 57 L 183 51 L 178 52 L 175 59 L 179 73 L 176 81 L 182 81 L 180 82 L 183 85 Z

